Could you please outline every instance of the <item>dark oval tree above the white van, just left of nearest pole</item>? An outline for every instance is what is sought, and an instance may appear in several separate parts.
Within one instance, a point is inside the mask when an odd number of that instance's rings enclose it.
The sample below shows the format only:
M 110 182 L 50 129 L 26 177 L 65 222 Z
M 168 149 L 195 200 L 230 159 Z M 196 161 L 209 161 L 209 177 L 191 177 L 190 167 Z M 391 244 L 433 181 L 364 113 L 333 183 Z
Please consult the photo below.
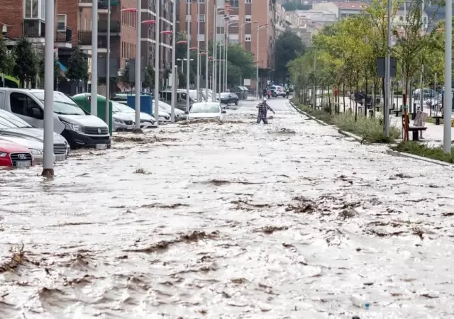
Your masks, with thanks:
M 15 65 L 13 75 L 19 79 L 20 86 L 31 81 L 38 71 L 38 59 L 31 43 L 26 38 L 20 38 L 13 49 Z

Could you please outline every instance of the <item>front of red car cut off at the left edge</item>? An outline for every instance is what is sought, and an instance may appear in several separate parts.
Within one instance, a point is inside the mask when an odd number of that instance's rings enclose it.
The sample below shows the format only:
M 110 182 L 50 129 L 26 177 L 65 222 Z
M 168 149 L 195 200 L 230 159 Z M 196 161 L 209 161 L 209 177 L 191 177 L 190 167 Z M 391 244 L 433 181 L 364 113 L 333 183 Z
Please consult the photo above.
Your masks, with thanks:
M 27 147 L 0 140 L 0 167 L 31 167 L 35 164 Z

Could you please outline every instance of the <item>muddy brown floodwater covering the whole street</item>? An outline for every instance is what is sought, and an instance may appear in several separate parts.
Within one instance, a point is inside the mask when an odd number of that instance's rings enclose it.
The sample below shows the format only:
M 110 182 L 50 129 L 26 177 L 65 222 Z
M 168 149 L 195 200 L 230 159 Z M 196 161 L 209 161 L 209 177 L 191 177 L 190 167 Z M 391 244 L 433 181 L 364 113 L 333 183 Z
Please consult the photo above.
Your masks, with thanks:
M 0 318 L 454 318 L 454 169 L 255 104 L 1 171 Z

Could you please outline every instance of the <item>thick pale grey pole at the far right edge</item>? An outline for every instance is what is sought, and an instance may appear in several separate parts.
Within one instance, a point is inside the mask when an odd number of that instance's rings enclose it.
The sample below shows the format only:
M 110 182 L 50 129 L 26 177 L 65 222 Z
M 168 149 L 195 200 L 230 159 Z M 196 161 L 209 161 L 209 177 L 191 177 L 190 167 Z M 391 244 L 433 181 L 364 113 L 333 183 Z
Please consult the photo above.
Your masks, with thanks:
M 451 113 L 452 113 L 452 87 L 453 87 L 453 0 L 446 0 L 445 5 L 445 101 L 443 103 L 443 151 L 451 152 Z

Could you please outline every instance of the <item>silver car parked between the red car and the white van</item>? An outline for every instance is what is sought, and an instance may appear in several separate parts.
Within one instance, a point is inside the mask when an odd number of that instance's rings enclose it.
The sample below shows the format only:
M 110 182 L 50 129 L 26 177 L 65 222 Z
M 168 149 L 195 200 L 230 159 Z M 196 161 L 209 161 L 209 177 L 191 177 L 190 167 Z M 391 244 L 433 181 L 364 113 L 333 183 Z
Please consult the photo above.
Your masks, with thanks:
M 42 128 L 33 128 L 26 121 L 23 121 L 13 113 L 0 110 L 0 137 L 9 136 L 13 138 L 25 138 L 27 140 L 37 140 L 44 142 L 44 130 Z M 28 147 L 28 146 L 27 146 Z M 33 152 L 34 156 L 42 153 Z M 62 161 L 70 154 L 70 145 L 62 135 L 54 132 L 54 155 L 57 161 Z M 37 159 L 39 162 L 39 159 Z

